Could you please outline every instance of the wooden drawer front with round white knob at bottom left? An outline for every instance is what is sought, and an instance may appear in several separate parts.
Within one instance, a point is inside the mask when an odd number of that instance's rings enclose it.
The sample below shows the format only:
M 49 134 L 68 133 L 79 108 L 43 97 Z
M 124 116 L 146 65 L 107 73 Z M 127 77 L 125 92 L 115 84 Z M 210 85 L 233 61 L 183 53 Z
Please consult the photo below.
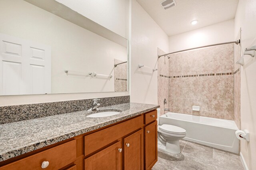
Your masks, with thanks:
M 42 162 L 48 161 L 45 170 L 60 169 L 76 160 L 76 140 L 60 144 L 32 156 L 18 160 L 0 170 L 42 170 Z

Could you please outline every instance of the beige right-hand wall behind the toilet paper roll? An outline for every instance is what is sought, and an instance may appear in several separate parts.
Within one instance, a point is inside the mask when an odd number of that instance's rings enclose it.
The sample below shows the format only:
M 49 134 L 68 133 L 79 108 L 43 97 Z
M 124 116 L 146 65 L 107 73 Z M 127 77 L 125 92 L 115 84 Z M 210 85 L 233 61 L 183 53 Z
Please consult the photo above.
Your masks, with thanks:
M 256 37 L 256 1 L 240 0 L 235 17 L 235 34 L 240 28 L 242 50 Z M 236 36 L 235 35 L 235 36 Z M 256 44 L 254 44 L 256 45 Z M 243 51 L 242 51 L 243 52 Z M 256 57 L 244 57 L 241 67 L 241 129 L 248 129 L 250 142 L 241 140 L 241 152 L 250 170 L 256 169 Z

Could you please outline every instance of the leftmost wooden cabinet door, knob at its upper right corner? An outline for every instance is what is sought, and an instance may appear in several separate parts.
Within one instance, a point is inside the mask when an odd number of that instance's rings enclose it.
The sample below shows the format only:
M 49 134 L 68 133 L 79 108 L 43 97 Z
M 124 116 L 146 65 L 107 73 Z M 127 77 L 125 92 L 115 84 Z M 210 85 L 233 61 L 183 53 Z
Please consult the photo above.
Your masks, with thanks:
M 121 142 L 118 141 L 104 150 L 84 159 L 86 170 L 120 170 L 121 169 Z

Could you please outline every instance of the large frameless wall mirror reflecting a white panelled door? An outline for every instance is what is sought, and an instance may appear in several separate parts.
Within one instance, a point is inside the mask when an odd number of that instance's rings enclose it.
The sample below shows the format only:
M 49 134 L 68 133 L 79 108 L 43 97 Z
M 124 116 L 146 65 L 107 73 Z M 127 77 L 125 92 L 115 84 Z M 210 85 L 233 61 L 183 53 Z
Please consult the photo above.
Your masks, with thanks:
M 128 91 L 128 40 L 54 0 L 0 0 L 0 95 Z

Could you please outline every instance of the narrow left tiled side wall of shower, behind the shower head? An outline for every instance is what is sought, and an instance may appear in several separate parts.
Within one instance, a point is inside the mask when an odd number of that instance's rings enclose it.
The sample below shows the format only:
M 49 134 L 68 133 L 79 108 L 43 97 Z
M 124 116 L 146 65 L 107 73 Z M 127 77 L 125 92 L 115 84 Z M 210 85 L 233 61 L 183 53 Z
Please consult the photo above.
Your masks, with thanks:
M 166 54 L 158 48 L 158 55 Z M 160 105 L 160 115 L 164 114 L 164 108 L 169 108 L 169 60 L 167 57 L 158 59 L 158 105 Z M 167 104 L 164 105 L 164 99 Z

